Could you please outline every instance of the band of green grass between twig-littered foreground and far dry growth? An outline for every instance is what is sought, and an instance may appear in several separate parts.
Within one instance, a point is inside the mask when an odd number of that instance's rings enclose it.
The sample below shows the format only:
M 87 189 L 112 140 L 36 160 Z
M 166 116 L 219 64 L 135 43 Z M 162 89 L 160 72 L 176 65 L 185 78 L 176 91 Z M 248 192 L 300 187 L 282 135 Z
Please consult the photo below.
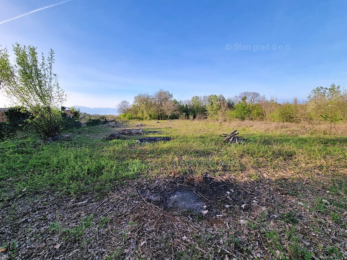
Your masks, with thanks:
M 171 128 L 165 128 L 167 125 Z M 146 145 L 136 144 L 137 137 L 107 141 L 102 137 L 115 129 L 96 126 L 76 130 L 66 143 L 44 144 L 34 138 L 1 142 L 2 197 L 23 189 L 74 195 L 107 190 L 122 179 L 172 173 L 246 174 L 257 180 L 259 171 L 286 172 L 293 178 L 346 171 L 347 138 L 341 136 L 298 136 L 245 128 L 239 131 L 247 142 L 236 146 L 222 143 L 218 136 L 232 130 L 228 125 L 176 121 L 158 127 L 162 128 L 160 135 L 170 136 L 172 141 Z M 338 185 L 329 189 L 346 194 L 346 182 Z

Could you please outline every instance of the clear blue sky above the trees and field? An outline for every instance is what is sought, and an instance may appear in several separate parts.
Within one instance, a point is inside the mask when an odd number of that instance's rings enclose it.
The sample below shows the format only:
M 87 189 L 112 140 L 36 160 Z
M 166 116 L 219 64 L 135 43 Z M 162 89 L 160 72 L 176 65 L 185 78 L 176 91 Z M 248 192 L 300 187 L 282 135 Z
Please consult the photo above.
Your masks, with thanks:
M 0 23 L 55 3 L 2 0 Z M 346 10 L 345 0 L 71 0 L 0 24 L 0 44 L 52 48 L 67 106 L 116 107 L 160 88 L 182 100 L 243 91 L 304 100 L 347 86 Z

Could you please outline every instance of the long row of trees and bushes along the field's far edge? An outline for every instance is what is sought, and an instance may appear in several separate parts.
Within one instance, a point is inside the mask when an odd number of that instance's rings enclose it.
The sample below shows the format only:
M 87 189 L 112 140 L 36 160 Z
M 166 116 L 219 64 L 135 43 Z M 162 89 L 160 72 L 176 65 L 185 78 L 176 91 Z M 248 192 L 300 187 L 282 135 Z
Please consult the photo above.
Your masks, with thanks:
M 193 96 L 178 101 L 173 95 L 160 89 L 154 95 L 138 94 L 133 104 L 121 101 L 118 105 L 121 118 L 138 119 L 214 119 L 220 121 L 270 120 L 276 122 L 347 121 L 347 92 L 340 86 L 317 87 L 304 103 L 279 104 L 276 97 L 267 99 L 257 92 L 242 92 L 234 97 L 223 95 Z

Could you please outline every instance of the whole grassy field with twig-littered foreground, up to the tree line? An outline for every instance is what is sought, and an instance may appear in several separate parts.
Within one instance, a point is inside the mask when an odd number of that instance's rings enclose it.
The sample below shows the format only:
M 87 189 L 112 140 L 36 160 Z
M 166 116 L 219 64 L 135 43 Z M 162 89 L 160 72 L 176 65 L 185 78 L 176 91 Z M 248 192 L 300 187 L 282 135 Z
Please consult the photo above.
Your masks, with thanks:
M 0 259 L 347 257 L 347 125 L 144 121 L 103 139 L 137 123 L 1 142 Z M 247 140 L 221 142 L 234 129 Z M 208 212 L 168 205 L 183 191 Z

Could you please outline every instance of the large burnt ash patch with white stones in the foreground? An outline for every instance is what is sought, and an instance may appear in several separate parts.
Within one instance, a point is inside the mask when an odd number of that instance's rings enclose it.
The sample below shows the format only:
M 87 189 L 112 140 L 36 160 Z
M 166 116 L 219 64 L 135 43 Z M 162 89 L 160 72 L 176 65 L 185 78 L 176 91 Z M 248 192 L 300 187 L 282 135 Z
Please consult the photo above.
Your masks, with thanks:
M 230 210 L 251 211 L 257 192 L 241 187 L 230 180 L 203 176 L 200 180 L 171 179 L 164 187 L 147 187 L 142 195 L 148 201 L 166 210 L 223 215 Z M 206 212 L 206 211 L 205 211 Z

